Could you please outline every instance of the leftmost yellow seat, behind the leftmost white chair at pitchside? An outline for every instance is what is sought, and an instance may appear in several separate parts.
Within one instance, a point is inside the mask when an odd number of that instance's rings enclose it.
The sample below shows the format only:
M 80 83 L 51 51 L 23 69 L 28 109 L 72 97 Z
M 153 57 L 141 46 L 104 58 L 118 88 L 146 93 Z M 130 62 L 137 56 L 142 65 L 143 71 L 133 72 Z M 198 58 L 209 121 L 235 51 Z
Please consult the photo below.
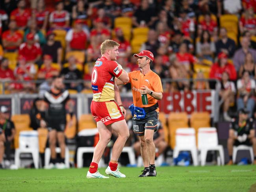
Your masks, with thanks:
M 19 148 L 19 134 L 20 131 L 33 130 L 30 128 L 30 116 L 29 114 L 15 114 L 11 117 L 11 120 L 15 126 L 15 136 L 14 136 L 14 147 Z

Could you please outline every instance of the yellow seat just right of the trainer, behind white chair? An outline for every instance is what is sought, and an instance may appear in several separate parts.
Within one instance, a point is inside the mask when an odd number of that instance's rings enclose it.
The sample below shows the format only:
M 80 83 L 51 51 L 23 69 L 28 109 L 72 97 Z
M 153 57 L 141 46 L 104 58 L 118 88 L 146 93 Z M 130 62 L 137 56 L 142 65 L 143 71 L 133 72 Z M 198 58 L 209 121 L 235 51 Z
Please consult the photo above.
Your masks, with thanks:
M 186 112 L 174 113 L 171 112 L 168 117 L 168 127 L 170 133 L 170 146 L 173 149 L 175 146 L 175 133 L 178 128 L 188 127 L 188 117 Z

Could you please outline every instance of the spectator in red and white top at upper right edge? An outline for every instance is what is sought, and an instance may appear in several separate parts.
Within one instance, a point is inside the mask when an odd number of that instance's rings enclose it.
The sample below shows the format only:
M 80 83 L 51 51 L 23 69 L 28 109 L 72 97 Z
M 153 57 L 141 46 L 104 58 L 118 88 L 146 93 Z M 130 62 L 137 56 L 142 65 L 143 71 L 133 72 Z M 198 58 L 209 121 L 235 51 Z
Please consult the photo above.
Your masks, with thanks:
M 239 21 L 240 33 L 250 31 L 252 35 L 256 35 L 256 17 L 254 16 L 253 7 L 245 11 L 244 17 Z

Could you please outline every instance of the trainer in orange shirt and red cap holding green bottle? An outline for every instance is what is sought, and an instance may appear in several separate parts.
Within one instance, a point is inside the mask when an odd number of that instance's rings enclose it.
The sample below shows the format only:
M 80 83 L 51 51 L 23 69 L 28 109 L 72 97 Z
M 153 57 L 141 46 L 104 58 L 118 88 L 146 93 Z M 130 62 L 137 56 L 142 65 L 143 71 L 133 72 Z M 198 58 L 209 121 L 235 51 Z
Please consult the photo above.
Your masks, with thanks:
M 145 166 L 139 177 L 156 176 L 156 147 L 153 135 L 157 131 L 159 114 L 157 102 L 163 97 L 163 88 L 160 77 L 150 70 L 154 55 L 150 51 L 144 50 L 139 54 L 134 54 L 134 57 L 138 57 L 139 68 L 141 68 L 141 70 L 128 73 L 134 107 L 141 107 L 146 113 L 144 118 L 139 118 L 136 113 L 132 118 L 133 131 L 136 135 L 139 135 L 141 156 Z M 119 79 L 116 81 L 117 85 L 122 84 Z M 142 101 L 142 97 L 145 96 L 147 96 L 148 103 Z

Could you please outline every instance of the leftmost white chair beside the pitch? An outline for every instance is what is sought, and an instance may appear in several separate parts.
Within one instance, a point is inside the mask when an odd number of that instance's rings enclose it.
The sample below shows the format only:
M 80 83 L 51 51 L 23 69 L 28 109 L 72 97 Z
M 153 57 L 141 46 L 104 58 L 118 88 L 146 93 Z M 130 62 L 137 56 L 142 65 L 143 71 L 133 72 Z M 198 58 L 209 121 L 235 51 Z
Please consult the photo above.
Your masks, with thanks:
M 20 167 L 20 153 L 31 153 L 35 168 L 39 167 L 39 144 L 37 131 L 20 131 L 19 148 L 15 150 L 15 165 Z

